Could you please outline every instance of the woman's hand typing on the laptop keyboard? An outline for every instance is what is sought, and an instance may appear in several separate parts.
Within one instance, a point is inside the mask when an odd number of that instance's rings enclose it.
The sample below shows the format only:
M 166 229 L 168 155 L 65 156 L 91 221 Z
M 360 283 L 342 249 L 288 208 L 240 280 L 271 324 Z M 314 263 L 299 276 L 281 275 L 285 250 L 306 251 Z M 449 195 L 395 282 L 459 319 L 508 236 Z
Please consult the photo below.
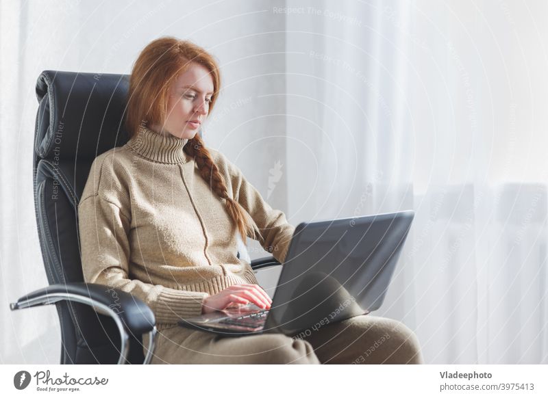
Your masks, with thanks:
M 259 308 L 269 309 L 272 300 L 266 291 L 258 284 L 233 284 L 216 295 L 210 295 L 203 300 L 202 314 L 224 310 L 232 304 L 253 303 Z

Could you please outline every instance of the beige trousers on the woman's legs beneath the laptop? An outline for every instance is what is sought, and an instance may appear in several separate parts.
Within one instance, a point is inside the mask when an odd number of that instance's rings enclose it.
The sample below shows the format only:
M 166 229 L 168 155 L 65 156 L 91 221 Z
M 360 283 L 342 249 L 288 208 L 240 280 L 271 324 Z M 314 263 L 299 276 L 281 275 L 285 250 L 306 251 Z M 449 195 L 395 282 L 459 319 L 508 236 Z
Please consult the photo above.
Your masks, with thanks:
M 419 341 L 403 323 L 358 315 L 290 337 L 220 337 L 173 326 L 158 332 L 153 364 L 420 364 Z

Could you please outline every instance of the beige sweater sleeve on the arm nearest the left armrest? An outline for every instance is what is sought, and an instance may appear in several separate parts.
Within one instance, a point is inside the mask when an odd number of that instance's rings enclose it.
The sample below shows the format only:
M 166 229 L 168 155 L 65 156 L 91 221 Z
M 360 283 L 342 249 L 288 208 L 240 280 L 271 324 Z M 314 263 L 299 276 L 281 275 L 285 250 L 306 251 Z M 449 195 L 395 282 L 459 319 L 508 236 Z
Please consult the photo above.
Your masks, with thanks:
M 101 163 L 92 165 L 78 206 L 84 280 L 138 297 L 149 305 L 157 323 L 177 323 L 180 318 L 200 315 L 208 293 L 179 291 L 130 278 L 130 215 L 120 206 L 125 201 L 123 195 L 116 195 L 120 186 L 108 176 L 110 172 L 105 173 L 108 170 L 101 172 L 103 168 Z

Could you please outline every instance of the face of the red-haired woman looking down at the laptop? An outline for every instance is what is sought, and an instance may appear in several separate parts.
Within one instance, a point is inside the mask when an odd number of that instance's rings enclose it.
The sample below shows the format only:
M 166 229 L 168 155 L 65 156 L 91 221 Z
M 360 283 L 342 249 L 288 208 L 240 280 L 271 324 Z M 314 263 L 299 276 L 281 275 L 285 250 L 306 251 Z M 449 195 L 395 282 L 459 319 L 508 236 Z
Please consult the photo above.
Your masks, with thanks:
M 193 62 L 170 88 L 164 124 L 152 125 L 151 129 L 177 138 L 194 137 L 208 116 L 213 90 L 208 68 Z

